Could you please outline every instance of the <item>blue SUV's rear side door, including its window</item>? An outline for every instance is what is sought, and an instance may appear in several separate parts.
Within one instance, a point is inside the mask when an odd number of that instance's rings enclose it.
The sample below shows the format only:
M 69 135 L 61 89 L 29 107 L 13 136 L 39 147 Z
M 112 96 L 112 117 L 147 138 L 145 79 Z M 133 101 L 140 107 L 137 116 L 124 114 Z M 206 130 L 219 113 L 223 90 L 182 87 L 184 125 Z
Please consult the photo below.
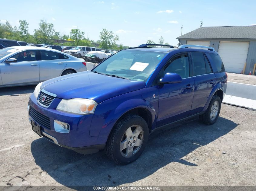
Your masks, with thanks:
M 190 113 L 193 115 L 203 110 L 213 87 L 216 85 L 216 77 L 204 53 L 191 52 L 191 59 L 195 82 L 194 99 Z

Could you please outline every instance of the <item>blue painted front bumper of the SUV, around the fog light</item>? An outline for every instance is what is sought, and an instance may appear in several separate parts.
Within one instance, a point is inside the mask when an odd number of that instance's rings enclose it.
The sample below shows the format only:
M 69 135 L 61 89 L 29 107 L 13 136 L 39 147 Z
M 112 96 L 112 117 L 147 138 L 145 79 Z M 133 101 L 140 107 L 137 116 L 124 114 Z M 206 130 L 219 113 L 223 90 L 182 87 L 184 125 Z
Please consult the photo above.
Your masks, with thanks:
M 55 144 L 75 150 L 80 153 L 84 153 L 84 150 L 99 150 L 105 147 L 107 137 L 91 137 L 90 126 L 93 114 L 89 115 L 77 115 L 72 113 L 65 113 L 55 110 L 61 99 L 55 97 L 48 108 L 38 105 L 37 99 L 34 94 L 30 95 L 28 102 L 28 118 L 29 122 L 35 121 L 35 123 L 41 126 L 41 134 L 49 141 Z M 36 110 L 38 115 L 31 116 L 31 107 Z M 40 114 L 40 115 L 39 115 Z M 46 116 L 49 119 L 50 126 L 45 126 L 44 123 L 40 123 L 40 118 Z M 68 123 L 70 126 L 69 133 L 56 132 L 54 129 L 54 120 Z M 86 153 L 84 153 L 86 154 Z

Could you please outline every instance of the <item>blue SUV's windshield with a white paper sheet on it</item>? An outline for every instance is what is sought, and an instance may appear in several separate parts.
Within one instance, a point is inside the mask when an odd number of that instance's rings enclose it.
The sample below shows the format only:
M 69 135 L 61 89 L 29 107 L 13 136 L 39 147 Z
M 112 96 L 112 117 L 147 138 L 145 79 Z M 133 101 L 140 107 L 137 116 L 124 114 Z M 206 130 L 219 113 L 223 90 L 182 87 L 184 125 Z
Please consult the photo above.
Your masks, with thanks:
M 130 80 L 146 81 L 166 54 L 153 51 L 122 50 L 91 71 Z

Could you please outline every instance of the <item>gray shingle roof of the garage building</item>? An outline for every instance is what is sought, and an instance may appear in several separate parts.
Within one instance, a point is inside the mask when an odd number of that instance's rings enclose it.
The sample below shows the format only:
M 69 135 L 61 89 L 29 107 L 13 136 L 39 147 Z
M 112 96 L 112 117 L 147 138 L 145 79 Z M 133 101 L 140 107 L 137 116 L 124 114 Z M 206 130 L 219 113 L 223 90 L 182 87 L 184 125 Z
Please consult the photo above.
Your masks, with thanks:
M 200 27 L 177 37 L 182 38 L 256 39 L 256 26 Z

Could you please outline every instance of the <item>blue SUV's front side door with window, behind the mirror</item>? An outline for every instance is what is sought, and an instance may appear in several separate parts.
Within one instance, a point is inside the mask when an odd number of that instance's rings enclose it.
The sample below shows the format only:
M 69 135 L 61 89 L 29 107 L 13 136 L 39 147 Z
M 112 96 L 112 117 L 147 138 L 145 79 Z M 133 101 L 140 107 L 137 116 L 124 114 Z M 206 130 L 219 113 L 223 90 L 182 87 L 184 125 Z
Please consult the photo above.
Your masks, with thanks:
M 177 73 L 181 83 L 160 84 L 157 126 L 162 126 L 189 115 L 194 96 L 194 79 L 190 72 L 188 53 L 175 55 L 163 68 L 166 73 Z

